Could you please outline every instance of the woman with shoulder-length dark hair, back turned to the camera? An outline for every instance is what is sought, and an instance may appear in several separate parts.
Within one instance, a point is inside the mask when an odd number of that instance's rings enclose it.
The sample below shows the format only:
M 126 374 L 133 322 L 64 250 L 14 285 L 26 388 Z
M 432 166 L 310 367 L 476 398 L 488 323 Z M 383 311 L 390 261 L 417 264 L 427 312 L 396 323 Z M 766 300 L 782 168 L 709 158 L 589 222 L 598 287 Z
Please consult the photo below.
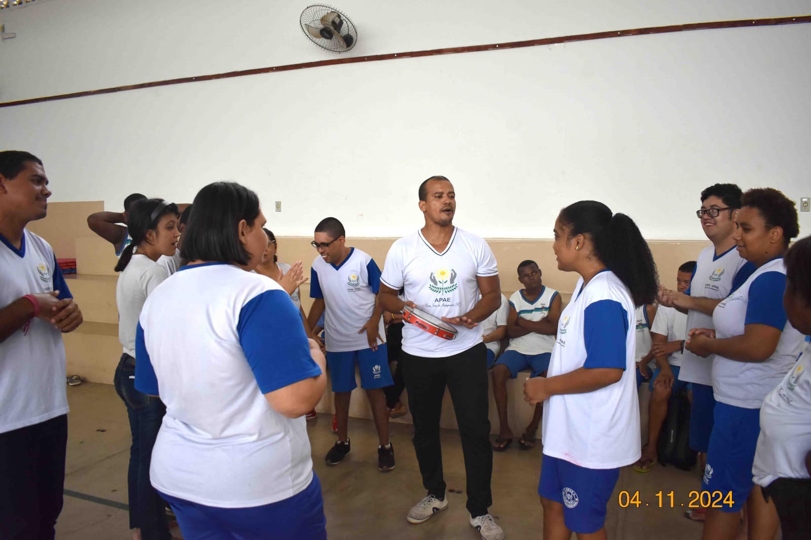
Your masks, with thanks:
M 189 263 L 141 313 L 135 388 L 166 404 L 152 485 L 184 538 L 326 538 L 303 418 L 324 393 L 325 360 L 290 295 L 250 272 L 264 224 L 253 191 L 205 186 Z

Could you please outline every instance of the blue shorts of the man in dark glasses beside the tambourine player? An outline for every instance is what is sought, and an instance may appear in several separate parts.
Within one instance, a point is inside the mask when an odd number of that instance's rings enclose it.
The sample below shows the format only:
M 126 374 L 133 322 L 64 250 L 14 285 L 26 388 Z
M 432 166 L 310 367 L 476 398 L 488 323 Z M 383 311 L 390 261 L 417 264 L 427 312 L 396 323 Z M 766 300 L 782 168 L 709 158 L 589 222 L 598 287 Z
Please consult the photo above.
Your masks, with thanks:
M 333 379 L 333 392 L 352 392 L 358 388 L 354 379 L 354 366 L 360 371 L 360 385 L 364 390 L 384 388 L 394 384 L 388 369 L 386 344 L 377 345 L 377 350 L 348 350 L 341 353 L 327 351 L 327 367 Z

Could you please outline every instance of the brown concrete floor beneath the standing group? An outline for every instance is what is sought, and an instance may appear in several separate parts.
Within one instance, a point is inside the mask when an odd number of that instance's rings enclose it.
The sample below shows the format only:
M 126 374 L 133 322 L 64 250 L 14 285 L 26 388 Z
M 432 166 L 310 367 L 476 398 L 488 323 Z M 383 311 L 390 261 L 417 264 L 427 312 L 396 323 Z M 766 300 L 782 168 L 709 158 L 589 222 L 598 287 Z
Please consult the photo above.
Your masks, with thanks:
M 59 540 L 127 540 L 127 460 L 130 432 L 124 405 L 107 384 L 82 384 L 67 388 L 68 417 L 65 507 L 57 524 Z M 448 492 L 447 510 L 421 525 L 405 521 L 405 512 L 425 495 L 420 481 L 410 426 L 392 425 L 397 469 L 377 470 L 374 425 L 350 419 L 352 453 L 335 467 L 324 465 L 333 445 L 331 417 L 320 414 L 309 422 L 315 472 L 324 489 L 324 510 L 329 538 L 461 538 L 476 540 L 468 525 L 465 495 Z M 518 431 L 523 426 L 513 426 Z M 465 470 L 456 431 L 442 434 L 445 481 L 449 489 L 465 491 Z M 541 538 L 543 512 L 537 488 L 541 448 L 522 452 L 516 443 L 493 459 L 491 513 L 504 527 L 507 538 Z M 688 493 L 699 488 L 697 469 L 687 473 L 656 465 L 649 474 L 629 467 L 608 505 L 606 520 L 612 539 L 684 540 L 701 538 L 702 525 L 684 518 Z M 640 508 L 620 508 L 620 491 L 639 491 Z M 674 491 L 676 508 L 658 508 L 654 494 Z M 667 499 L 665 499 L 667 501 Z M 667 504 L 669 506 L 669 504 Z M 178 534 L 179 536 L 179 534 Z

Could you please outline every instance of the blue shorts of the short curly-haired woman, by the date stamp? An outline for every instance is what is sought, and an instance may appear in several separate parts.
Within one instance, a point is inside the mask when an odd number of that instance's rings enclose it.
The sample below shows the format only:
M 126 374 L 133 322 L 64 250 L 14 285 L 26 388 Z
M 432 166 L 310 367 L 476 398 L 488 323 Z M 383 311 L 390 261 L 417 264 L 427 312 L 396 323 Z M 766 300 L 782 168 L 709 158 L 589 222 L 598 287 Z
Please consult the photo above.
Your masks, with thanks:
M 715 424 L 707 451 L 702 491 L 720 491 L 723 497 L 732 491 L 732 507 L 723 512 L 738 512 L 752 491 L 752 464 L 757 436 L 760 435 L 760 409 L 744 409 L 718 402 Z

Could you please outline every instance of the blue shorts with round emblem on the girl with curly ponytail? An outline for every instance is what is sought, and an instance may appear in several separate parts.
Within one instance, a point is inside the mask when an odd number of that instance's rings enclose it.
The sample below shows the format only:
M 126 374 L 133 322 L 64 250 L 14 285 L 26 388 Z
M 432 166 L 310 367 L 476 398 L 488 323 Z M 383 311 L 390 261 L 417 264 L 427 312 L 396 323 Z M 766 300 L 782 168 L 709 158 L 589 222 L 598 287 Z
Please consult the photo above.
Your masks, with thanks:
M 590 534 L 603 529 L 620 469 L 586 469 L 543 454 L 538 495 L 563 504 L 566 528 Z

